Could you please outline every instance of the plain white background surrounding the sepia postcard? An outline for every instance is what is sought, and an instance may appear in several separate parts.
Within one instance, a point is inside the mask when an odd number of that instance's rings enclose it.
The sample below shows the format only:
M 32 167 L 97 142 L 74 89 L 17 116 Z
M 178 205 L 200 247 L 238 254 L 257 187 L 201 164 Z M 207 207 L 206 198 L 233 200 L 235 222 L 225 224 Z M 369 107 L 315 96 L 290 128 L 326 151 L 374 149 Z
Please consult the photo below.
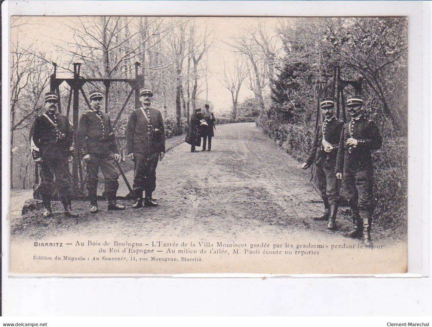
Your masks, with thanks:
M 9 12 L 8 12 L 9 10 Z M 408 16 L 411 278 L 9 278 L 9 112 L 2 111 L 3 315 L 425 315 L 429 275 L 429 3 L 13 1 L 2 4 L 2 108 L 8 108 L 8 14 Z M 6 34 L 5 34 L 6 33 Z M 425 34 L 426 33 L 426 34 Z M 423 35 L 423 38 L 422 38 Z M 229 277 L 226 277 L 229 276 Z M 241 276 L 243 278 L 238 278 Z M 415 277 L 417 276 L 417 277 Z M 262 277 L 262 276 L 261 276 Z M 15 321 L 11 321 L 15 322 Z M 19 322 L 19 321 L 16 321 Z M 399 322 L 399 321 L 395 321 Z M 319 322 L 317 322 L 319 323 Z M 381 324 L 385 326 L 385 324 Z

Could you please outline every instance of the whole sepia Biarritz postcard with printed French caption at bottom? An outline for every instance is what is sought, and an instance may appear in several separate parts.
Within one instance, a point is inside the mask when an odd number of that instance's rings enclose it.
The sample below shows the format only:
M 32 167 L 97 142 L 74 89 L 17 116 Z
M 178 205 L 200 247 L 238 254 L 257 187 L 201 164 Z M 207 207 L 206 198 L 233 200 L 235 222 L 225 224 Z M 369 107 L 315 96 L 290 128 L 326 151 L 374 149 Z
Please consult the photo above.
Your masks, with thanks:
M 407 273 L 409 23 L 11 16 L 10 275 Z

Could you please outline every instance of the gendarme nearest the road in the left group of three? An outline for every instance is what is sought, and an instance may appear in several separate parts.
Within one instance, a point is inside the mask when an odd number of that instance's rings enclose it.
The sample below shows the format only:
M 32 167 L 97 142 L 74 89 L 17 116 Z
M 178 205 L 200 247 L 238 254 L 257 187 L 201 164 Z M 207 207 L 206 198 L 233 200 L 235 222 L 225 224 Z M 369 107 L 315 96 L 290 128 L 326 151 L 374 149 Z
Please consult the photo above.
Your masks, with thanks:
M 165 129 L 162 114 L 151 107 L 152 90 L 140 89 L 142 106 L 134 110 L 127 122 L 127 149 L 135 162 L 133 190 L 136 202 L 133 208 L 157 206 L 152 198 L 156 189 L 156 167 L 165 155 Z

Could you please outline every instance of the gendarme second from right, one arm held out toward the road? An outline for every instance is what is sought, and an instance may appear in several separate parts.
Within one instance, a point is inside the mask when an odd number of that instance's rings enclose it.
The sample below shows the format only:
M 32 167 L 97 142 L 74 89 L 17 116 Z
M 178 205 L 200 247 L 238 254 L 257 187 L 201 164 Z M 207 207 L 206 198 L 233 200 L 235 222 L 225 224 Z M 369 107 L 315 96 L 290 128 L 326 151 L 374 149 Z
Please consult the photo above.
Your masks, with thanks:
M 315 164 L 318 188 L 324 201 L 326 212 L 315 220 L 328 220 L 327 229 L 336 229 L 336 215 L 339 206 L 340 181 L 336 178 L 335 166 L 340 132 L 343 121 L 334 116 L 334 101 L 324 98 L 320 101 L 324 121 L 315 132 L 314 143 L 302 168 Z

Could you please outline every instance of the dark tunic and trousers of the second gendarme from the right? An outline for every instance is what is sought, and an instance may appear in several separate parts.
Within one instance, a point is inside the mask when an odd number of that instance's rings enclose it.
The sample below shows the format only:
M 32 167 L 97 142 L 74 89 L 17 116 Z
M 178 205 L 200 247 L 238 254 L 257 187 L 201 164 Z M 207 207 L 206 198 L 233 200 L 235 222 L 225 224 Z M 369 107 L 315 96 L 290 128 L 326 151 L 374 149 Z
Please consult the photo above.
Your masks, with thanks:
M 315 163 L 315 173 L 317 174 L 318 189 L 324 201 L 328 200 L 329 204 L 339 203 L 339 186 L 340 182 L 336 178 L 335 166 L 337 149 L 339 147 L 340 133 L 343 127 L 343 121 L 336 117 L 325 119 L 315 133 L 314 143 L 309 152 L 306 163 L 310 166 Z M 331 152 L 325 152 L 322 140 L 326 140 L 333 146 Z

